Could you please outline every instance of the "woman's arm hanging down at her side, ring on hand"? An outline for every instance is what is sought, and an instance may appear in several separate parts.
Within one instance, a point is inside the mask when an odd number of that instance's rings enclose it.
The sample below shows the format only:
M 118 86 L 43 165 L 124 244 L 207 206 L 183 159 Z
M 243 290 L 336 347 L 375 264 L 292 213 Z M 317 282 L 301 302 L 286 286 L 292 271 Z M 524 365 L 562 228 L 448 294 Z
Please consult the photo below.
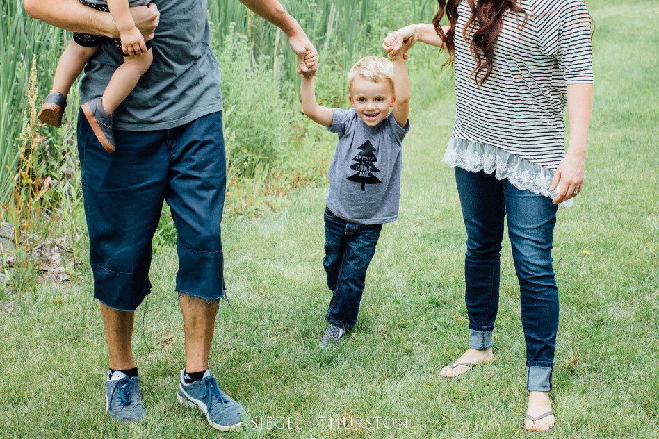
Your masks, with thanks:
M 549 188 L 549 190 L 554 190 L 560 181 L 560 190 L 553 201 L 554 204 L 576 197 L 583 187 L 586 144 L 592 108 L 592 84 L 567 85 L 567 118 L 570 124 L 570 141 L 565 157 L 558 165 Z

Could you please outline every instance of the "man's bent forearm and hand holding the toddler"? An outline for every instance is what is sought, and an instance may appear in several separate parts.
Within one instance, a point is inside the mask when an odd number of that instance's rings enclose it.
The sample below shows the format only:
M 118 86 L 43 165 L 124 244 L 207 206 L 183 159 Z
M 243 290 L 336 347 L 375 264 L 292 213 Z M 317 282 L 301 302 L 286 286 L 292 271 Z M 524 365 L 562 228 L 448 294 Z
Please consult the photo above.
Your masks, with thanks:
M 78 0 L 57 0 L 56 7 L 52 0 L 23 0 L 23 6 L 30 17 L 58 28 L 119 38 L 119 31 L 109 13 L 83 6 Z M 145 40 L 153 38 L 160 19 L 156 5 L 136 6 L 130 11 L 135 26 L 140 29 Z

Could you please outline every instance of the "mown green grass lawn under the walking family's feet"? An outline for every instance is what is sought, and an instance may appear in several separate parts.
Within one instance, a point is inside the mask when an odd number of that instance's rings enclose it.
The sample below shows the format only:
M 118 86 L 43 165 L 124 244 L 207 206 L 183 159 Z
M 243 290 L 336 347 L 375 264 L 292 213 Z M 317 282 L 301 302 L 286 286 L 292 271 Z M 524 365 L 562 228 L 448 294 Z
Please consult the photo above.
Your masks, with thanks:
M 554 268 L 561 317 L 550 438 L 659 436 L 659 3 L 589 1 L 596 22 L 596 96 L 587 180 L 561 208 Z M 211 368 L 256 418 L 300 429 L 243 429 L 227 438 L 527 437 L 519 289 L 504 240 L 494 362 L 448 383 L 439 369 L 467 346 L 464 226 L 453 170 L 441 164 L 453 123 L 450 70 L 415 48 L 412 132 L 400 218 L 384 226 L 356 330 L 322 351 L 330 300 L 321 264 L 325 188 L 291 194 L 277 212 L 226 224 L 233 308 L 218 314 Z M 428 64 L 430 67 L 425 67 Z M 332 147 L 334 136 L 327 134 Z M 587 251 L 587 254 L 585 254 Z M 104 413 L 107 351 L 92 282 L 40 285 L 0 311 L 0 438 L 215 438 L 177 404 L 183 329 L 174 249 L 156 254 L 134 353 L 147 419 Z M 321 418 L 400 418 L 398 429 L 336 429 Z M 307 426 L 305 422 L 318 422 Z M 325 422 L 325 429 L 322 428 Z M 389 423 L 391 421 L 388 421 Z M 387 424 L 390 426 L 390 424 Z M 279 422 L 281 426 L 281 421 Z M 355 421 L 353 421 L 355 426 Z M 362 424 L 365 426 L 365 424 Z

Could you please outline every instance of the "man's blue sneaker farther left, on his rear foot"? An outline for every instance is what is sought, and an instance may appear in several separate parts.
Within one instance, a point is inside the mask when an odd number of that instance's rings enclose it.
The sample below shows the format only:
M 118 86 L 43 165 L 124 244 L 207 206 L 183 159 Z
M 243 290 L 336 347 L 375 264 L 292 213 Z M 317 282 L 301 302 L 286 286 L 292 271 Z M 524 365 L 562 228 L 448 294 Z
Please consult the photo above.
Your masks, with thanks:
M 129 378 L 115 370 L 111 379 L 105 382 L 106 411 L 112 418 L 121 422 L 140 422 L 145 414 L 140 392 L 140 377 Z

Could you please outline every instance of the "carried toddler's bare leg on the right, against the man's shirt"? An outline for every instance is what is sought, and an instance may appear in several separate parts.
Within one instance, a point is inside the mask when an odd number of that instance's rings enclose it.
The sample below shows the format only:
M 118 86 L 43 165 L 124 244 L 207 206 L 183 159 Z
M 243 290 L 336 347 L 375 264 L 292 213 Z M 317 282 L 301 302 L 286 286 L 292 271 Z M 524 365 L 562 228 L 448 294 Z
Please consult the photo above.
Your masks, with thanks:
M 124 57 L 124 63 L 117 67 L 110 82 L 103 92 L 103 108 L 111 115 L 126 97 L 133 91 L 140 77 L 151 67 L 152 50 L 134 58 Z

